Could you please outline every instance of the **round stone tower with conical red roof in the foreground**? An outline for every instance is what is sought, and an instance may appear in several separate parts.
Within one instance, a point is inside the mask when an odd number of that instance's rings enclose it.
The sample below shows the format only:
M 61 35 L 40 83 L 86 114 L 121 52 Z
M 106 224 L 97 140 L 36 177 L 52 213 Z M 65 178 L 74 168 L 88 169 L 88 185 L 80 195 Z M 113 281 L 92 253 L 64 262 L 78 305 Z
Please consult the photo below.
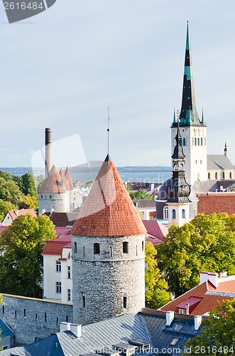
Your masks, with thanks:
M 107 155 L 72 228 L 74 323 L 144 307 L 145 232 Z

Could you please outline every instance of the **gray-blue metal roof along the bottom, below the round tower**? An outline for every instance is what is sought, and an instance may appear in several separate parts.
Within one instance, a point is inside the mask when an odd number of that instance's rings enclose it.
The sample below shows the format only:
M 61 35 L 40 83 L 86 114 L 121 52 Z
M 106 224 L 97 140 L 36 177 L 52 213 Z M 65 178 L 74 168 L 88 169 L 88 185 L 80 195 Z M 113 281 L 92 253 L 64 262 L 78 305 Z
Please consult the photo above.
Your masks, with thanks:
M 82 337 L 76 337 L 70 331 L 63 331 L 31 345 L 1 351 L 0 355 L 78 356 L 94 353 L 103 347 L 114 349 L 115 344 L 129 344 L 132 339 L 145 340 L 151 344 L 151 350 L 146 350 L 141 355 L 161 355 L 164 347 L 172 350 L 174 347 L 175 350 L 182 348 L 188 337 L 197 335 L 198 332 L 194 330 L 194 319 L 190 315 L 186 316 L 187 318 L 185 315 L 175 318 L 170 327 L 166 327 L 164 312 L 143 310 L 136 315 L 124 314 L 99 323 L 84 325 Z M 176 340 L 174 346 L 173 340 Z M 136 350 L 135 355 L 140 355 L 140 352 Z M 179 355 L 179 352 L 164 355 Z

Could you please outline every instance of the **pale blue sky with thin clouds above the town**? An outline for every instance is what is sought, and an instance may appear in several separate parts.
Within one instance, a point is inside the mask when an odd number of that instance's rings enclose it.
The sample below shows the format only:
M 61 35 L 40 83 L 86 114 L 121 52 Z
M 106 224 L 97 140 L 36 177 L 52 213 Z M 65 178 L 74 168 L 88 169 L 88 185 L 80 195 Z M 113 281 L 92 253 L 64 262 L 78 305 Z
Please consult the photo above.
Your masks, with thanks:
M 57 0 L 11 24 L 0 3 L 0 167 L 37 165 L 45 127 L 58 166 L 104 160 L 108 107 L 116 166 L 170 166 L 187 19 L 207 153 L 235 164 L 234 0 Z

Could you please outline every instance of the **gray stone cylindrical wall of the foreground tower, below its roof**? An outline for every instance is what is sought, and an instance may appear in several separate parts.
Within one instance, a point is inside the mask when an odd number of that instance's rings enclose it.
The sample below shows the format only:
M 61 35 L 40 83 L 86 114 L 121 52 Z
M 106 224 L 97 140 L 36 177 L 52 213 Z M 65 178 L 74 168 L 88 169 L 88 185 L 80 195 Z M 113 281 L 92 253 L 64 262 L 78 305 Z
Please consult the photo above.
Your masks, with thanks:
M 128 253 L 123 252 L 124 242 Z M 94 253 L 94 244 L 99 244 L 99 253 Z M 72 236 L 74 322 L 94 323 L 144 308 L 144 263 L 144 235 Z

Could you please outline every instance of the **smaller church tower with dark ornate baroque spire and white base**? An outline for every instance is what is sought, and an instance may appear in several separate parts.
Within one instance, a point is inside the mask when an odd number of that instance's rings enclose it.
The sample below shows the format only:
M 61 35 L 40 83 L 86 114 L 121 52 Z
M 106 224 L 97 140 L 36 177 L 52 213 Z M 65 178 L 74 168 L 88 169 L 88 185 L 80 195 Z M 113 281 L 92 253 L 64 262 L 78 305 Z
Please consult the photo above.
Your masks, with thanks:
M 190 221 L 190 185 L 185 179 L 185 154 L 182 150 L 180 120 L 177 120 L 176 145 L 172 157 L 173 176 L 168 184 L 168 226 Z

